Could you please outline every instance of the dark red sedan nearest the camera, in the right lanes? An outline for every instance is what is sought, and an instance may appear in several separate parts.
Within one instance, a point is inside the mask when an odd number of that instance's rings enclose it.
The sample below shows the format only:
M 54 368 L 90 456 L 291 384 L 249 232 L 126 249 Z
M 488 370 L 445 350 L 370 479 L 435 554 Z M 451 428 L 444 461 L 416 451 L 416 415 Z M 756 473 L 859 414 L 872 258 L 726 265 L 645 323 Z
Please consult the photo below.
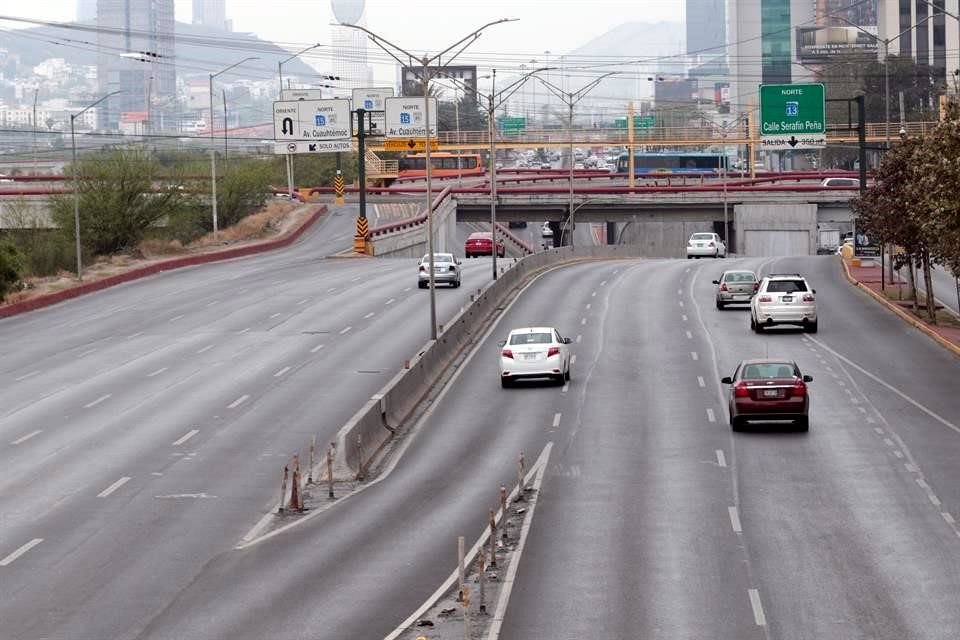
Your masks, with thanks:
M 730 427 L 742 431 L 748 421 L 789 420 L 800 431 L 810 428 L 810 392 L 813 376 L 800 373 L 796 362 L 744 360 L 732 376 L 720 382 L 730 385 Z

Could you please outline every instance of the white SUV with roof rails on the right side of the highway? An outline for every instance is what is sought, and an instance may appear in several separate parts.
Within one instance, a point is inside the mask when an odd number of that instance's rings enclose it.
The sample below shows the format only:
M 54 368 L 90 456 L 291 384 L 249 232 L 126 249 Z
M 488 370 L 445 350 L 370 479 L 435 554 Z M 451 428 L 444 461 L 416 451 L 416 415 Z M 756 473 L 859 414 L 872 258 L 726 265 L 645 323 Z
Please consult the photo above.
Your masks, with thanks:
M 766 327 L 792 324 L 816 333 L 816 293 L 799 273 L 764 277 L 750 301 L 750 328 L 762 333 Z

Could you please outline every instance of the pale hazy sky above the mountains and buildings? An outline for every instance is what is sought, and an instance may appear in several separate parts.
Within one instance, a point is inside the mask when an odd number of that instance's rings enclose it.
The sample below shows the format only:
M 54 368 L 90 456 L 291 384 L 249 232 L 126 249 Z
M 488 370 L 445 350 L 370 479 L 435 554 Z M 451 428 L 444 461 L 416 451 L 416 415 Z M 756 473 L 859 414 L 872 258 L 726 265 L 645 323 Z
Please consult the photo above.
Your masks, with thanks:
M 489 29 L 470 52 L 540 58 L 544 51 L 575 49 L 623 22 L 679 22 L 683 5 L 683 0 L 367 0 L 366 25 L 422 53 L 445 49 L 486 22 L 519 18 Z M 178 20 L 190 21 L 190 0 L 176 0 L 176 10 Z M 76 0 L 0 0 L 0 14 L 70 21 Z M 227 0 L 227 17 L 235 31 L 252 31 L 291 49 L 329 42 L 333 21 L 329 0 Z

